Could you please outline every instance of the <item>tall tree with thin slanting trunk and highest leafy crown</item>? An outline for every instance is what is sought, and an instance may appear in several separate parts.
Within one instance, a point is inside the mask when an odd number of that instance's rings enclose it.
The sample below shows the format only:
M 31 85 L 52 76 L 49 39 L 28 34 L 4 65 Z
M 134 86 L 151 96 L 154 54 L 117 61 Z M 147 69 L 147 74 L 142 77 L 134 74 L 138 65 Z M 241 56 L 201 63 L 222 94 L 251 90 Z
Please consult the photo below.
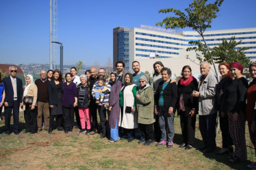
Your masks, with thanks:
M 217 17 L 217 12 L 219 12 L 219 7 L 224 0 L 216 0 L 214 4 L 206 4 L 208 0 L 194 0 L 192 4 L 185 9 L 186 13 L 181 12 L 178 9 L 168 8 L 160 9 L 159 13 L 174 13 L 176 16 L 168 16 L 162 22 L 156 23 L 156 25 L 165 24 L 165 28 L 193 28 L 202 37 L 204 45 L 200 42 L 189 42 L 192 45 L 197 45 L 197 47 L 189 47 L 187 50 L 200 50 L 204 55 L 204 61 L 208 61 L 210 64 L 214 65 L 214 60 L 212 55 L 210 55 L 210 48 L 204 39 L 204 31 L 207 28 L 211 28 L 211 23 L 214 18 Z M 200 59 L 200 58 L 199 58 Z M 202 61 L 203 59 L 201 59 Z M 214 65 L 214 70 L 217 73 L 217 69 Z

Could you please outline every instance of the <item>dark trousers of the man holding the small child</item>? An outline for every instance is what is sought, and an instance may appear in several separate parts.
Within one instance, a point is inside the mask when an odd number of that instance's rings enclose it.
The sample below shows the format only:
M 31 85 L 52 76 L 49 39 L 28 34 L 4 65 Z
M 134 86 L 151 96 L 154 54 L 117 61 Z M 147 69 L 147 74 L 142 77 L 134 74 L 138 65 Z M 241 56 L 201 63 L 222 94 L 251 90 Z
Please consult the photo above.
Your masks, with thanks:
M 98 105 L 98 112 L 101 120 L 101 133 L 110 135 L 110 128 L 109 128 L 109 123 L 107 122 L 107 117 L 109 118 L 109 111 L 106 110 L 104 106 L 99 106 Z M 106 115 L 107 113 L 107 115 Z

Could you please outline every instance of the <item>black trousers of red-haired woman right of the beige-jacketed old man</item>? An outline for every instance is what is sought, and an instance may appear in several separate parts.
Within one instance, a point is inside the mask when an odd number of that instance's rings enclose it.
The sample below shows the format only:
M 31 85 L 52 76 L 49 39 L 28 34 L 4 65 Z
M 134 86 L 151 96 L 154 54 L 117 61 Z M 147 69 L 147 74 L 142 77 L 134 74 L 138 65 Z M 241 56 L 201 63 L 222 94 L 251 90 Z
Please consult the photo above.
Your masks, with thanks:
M 233 145 L 233 140 L 229 133 L 228 115 L 219 118 L 219 127 L 221 127 L 222 148 L 231 147 L 231 145 Z

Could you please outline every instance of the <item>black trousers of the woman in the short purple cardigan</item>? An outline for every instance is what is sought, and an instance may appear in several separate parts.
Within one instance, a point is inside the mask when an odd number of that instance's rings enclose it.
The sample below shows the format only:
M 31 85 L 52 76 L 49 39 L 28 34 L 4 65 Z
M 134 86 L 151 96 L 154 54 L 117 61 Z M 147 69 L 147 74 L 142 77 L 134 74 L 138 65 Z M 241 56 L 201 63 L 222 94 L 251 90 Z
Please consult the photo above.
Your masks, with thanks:
M 73 107 L 62 107 L 64 128 L 66 130 L 72 129 L 74 125 L 74 108 Z

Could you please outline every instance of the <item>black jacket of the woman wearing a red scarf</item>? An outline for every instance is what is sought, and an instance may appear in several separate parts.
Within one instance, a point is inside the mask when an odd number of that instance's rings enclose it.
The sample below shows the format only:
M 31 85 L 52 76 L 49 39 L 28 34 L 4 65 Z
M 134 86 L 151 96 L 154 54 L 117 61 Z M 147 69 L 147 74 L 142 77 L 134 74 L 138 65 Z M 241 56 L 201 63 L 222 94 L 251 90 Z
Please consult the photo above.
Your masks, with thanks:
M 192 97 L 192 92 L 198 89 L 197 79 L 193 81 L 188 86 L 182 86 L 180 81 L 178 81 L 178 98 L 177 98 L 177 110 L 178 115 L 180 115 L 180 96 L 183 94 L 183 101 L 185 106 L 185 116 L 188 116 L 192 108 L 198 110 L 198 98 Z M 197 113 L 197 112 L 196 112 Z

